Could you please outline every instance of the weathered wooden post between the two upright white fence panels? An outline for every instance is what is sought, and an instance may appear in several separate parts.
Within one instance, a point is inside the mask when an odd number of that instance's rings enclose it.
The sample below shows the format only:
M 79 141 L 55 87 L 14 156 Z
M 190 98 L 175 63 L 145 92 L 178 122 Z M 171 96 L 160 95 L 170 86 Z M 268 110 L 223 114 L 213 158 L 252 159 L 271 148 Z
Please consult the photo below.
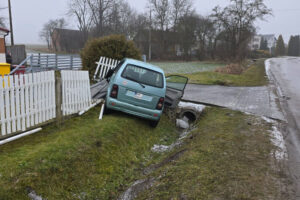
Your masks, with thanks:
M 59 71 L 55 72 L 55 104 L 56 104 L 56 124 L 61 125 L 63 120 L 62 115 L 62 80 Z

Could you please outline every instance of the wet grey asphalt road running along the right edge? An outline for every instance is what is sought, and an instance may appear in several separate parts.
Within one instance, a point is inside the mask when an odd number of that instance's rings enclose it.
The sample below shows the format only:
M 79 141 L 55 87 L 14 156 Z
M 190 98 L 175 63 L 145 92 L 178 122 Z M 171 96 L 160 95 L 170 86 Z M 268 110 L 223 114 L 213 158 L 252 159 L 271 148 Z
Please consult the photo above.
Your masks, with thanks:
M 288 121 L 285 135 L 288 164 L 296 186 L 296 199 L 300 199 L 300 58 L 274 58 L 268 63 L 269 76 L 280 89 Z

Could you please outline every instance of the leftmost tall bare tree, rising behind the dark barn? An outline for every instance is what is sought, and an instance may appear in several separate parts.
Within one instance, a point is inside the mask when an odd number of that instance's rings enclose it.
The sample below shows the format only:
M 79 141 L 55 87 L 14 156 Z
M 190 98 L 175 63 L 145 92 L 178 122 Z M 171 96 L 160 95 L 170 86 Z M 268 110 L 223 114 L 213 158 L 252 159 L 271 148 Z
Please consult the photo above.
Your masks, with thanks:
M 78 29 L 82 32 L 83 40 L 86 41 L 92 26 L 89 0 L 71 0 L 68 15 L 76 18 Z

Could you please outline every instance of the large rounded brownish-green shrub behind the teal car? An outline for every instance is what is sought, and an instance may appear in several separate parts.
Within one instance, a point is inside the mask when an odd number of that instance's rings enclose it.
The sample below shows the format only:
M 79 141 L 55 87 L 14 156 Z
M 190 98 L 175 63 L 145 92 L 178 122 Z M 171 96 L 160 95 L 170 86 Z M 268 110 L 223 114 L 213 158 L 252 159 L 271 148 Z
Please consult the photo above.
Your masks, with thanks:
M 121 60 L 123 58 L 141 59 L 140 51 L 133 41 L 127 41 L 123 35 L 110 35 L 89 40 L 81 53 L 84 70 L 88 70 L 93 76 L 96 70 L 96 62 L 101 56 Z

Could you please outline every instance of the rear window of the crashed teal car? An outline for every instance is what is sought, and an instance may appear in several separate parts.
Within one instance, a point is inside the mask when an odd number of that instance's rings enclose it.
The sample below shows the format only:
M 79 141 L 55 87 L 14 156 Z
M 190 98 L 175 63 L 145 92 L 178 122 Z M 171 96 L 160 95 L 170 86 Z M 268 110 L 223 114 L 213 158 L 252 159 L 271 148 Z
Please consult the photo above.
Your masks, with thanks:
M 122 73 L 122 77 L 153 87 L 163 88 L 162 73 L 128 64 Z

